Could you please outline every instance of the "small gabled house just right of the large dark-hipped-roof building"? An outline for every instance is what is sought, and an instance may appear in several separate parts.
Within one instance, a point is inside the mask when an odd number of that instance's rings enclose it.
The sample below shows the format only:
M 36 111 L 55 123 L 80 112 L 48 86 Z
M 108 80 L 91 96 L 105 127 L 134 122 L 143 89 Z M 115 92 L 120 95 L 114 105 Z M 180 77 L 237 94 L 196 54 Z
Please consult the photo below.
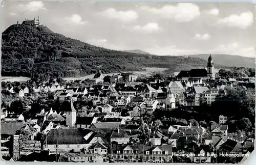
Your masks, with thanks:
M 97 153 L 101 156 L 103 156 L 103 161 L 107 161 L 107 154 L 108 154 L 108 147 L 104 146 L 100 142 L 96 142 L 92 146 L 88 148 L 90 154 Z

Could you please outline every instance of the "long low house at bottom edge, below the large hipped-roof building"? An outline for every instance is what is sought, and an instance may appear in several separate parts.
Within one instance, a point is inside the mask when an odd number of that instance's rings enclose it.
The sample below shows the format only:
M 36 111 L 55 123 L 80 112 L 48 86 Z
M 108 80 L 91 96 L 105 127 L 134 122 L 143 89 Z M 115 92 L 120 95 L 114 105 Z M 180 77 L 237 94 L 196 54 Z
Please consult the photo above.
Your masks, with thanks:
M 103 162 L 103 156 L 97 153 L 68 152 L 60 155 L 58 162 Z

